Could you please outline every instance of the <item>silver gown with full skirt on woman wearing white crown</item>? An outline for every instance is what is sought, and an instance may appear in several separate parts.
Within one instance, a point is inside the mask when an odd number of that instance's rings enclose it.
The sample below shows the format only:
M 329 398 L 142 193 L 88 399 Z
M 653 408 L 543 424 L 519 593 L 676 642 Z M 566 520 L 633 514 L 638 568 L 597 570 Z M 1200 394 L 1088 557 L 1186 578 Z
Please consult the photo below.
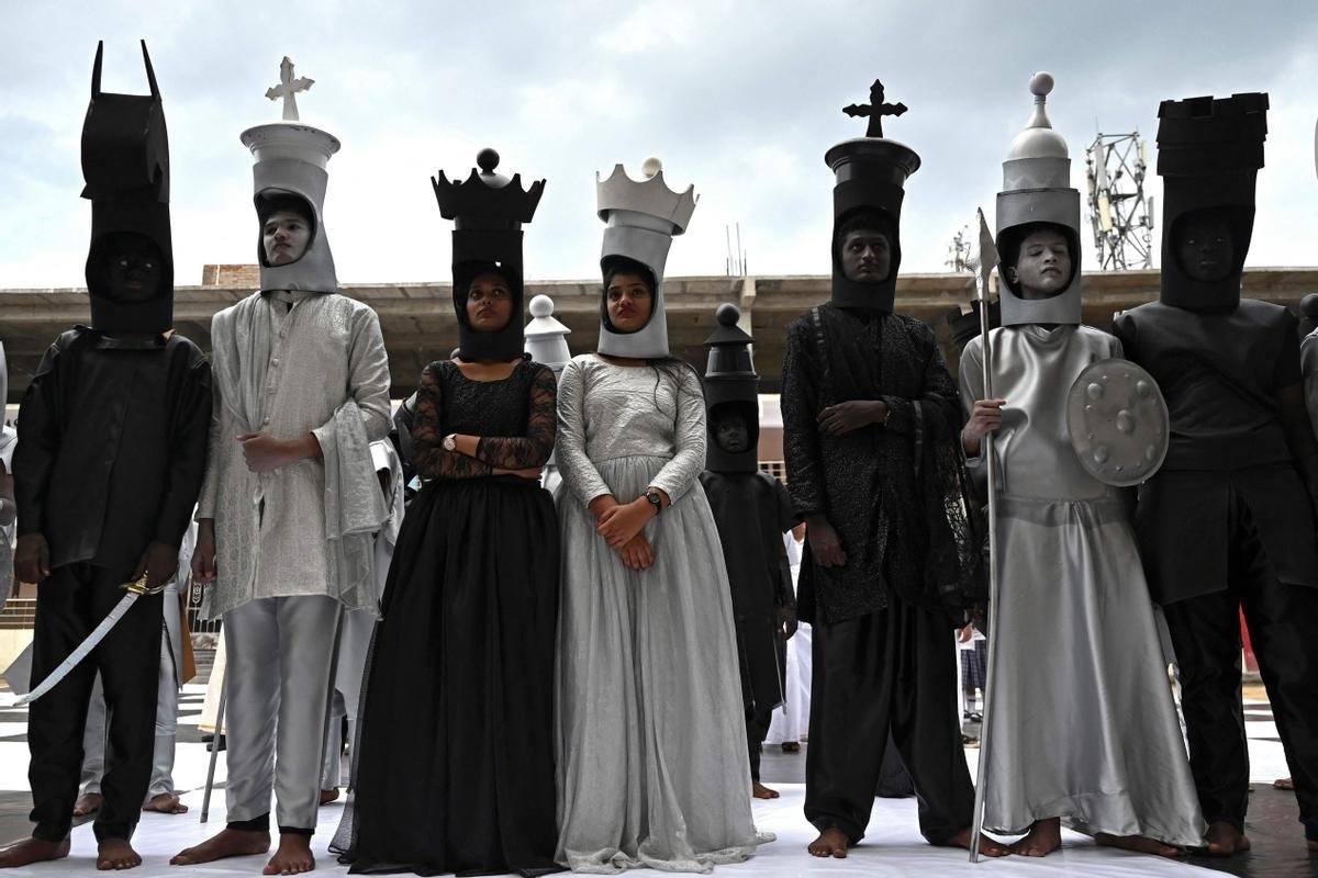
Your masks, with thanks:
M 583 355 L 559 379 L 561 603 L 559 844 L 575 871 L 709 871 L 754 853 L 746 723 L 728 574 L 697 477 L 705 404 L 692 370 Z M 587 504 L 646 486 L 655 563 L 627 570 Z

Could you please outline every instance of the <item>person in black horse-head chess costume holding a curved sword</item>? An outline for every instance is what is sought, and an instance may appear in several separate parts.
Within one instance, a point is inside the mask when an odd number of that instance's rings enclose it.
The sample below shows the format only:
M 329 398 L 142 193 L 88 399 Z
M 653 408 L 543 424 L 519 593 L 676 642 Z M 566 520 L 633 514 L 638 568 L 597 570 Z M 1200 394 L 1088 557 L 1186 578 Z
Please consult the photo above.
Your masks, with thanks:
M 173 330 L 169 142 L 146 45 L 150 95 L 100 91 L 96 47 L 82 165 L 91 200 L 91 326 L 55 340 L 22 399 L 14 454 L 18 578 L 41 587 L 32 661 L 43 681 L 124 598 L 175 575 L 202 487 L 211 373 Z M 96 671 L 109 708 L 95 832 L 98 869 L 141 862 L 129 839 L 152 775 L 162 596 L 132 603 L 86 661 L 32 703 L 32 837 L 0 866 L 69 854 Z

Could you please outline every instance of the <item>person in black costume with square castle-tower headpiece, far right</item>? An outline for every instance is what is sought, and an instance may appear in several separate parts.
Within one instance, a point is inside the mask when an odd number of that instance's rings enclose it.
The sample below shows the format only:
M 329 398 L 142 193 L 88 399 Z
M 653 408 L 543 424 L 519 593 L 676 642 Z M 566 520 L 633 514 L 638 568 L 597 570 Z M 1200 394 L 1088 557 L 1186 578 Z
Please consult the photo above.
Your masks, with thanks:
M 1318 444 L 1296 317 L 1240 297 L 1267 109 L 1264 93 L 1162 101 L 1159 301 L 1115 321 L 1126 357 L 1157 380 L 1172 419 L 1135 523 L 1181 667 L 1190 769 L 1215 856 L 1249 849 L 1242 609 L 1318 850 Z

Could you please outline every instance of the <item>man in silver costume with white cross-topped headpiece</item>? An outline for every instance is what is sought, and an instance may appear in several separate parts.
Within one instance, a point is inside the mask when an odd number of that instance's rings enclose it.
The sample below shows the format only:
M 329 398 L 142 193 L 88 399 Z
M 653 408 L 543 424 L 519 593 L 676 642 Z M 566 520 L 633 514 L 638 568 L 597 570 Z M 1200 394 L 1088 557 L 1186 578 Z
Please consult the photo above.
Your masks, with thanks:
M 285 59 L 286 92 L 304 84 L 291 74 Z M 315 866 L 340 609 L 374 602 L 373 538 L 389 511 L 370 442 L 390 424 L 380 321 L 339 295 L 323 222 L 339 141 L 291 116 L 243 133 L 261 290 L 211 324 L 215 416 L 192 574 L 214 579 L 206 609 L 224 617 L 228 825 L 171 861 L 268 850 L 273 786 L 268 871 L 283 874 Z

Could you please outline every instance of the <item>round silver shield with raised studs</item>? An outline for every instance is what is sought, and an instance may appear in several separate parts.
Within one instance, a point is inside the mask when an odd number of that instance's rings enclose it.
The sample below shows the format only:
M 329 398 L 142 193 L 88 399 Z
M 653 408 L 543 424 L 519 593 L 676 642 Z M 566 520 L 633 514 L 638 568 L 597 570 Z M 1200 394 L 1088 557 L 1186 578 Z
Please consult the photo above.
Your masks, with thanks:
M 1101 359 L 1066 395 L 1066 430 L 1090 475 L 1118 487 L 1157 473 L 1169 440 L 1166 401 L 1153 378 L 1126 359 Z

